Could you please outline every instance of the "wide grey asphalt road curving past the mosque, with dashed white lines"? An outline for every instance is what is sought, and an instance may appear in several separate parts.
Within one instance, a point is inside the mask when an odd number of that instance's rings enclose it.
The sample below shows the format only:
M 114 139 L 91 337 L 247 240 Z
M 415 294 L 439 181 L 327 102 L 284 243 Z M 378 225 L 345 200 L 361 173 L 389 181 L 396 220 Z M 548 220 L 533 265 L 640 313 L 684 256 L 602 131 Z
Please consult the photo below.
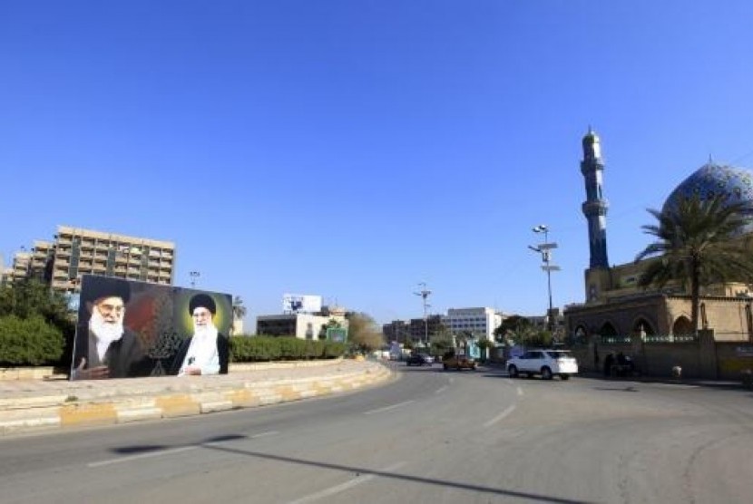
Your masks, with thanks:
M 398 364 L 357 393 L 0 440 L 0 502 L 750 502 L 753 394 Z

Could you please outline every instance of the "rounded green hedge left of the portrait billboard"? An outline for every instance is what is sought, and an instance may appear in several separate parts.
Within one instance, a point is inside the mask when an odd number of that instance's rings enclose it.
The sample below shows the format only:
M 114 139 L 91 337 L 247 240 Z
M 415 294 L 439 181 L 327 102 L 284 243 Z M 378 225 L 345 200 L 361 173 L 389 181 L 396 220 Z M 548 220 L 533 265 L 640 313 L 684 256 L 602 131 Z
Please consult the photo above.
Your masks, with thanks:
M 64 346 L 63 332 L 42 316 L 0 316 L 0 365 L 59 363 Z

